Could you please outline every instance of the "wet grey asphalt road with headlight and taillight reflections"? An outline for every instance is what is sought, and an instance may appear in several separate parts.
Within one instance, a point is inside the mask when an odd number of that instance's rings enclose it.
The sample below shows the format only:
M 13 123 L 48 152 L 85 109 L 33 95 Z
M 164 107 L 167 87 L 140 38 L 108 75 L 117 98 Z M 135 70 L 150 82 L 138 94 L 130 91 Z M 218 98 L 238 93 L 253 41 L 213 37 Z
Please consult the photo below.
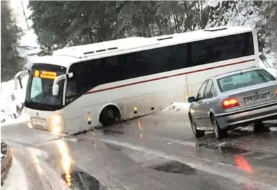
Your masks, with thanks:
M 64 138 L 12 125 L 1 138 L 28 189 L 260 190 L 277 189 L 276 127 L 197 140 L 186 114 L 172 110 Z

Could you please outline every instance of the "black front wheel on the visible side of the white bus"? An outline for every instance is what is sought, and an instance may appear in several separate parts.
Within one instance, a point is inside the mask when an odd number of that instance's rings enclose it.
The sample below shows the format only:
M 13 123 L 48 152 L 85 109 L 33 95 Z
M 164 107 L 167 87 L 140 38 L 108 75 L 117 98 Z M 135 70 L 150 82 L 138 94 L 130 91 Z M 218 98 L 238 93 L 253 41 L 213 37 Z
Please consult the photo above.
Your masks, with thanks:
M 120 120 L 120 110 L 118 110 L 118 108 L 114 105 L 108 105 L 105 107 L 99 118 L 99 121 L 104 127 L 113 125 L 117 122 L 117 120 Z

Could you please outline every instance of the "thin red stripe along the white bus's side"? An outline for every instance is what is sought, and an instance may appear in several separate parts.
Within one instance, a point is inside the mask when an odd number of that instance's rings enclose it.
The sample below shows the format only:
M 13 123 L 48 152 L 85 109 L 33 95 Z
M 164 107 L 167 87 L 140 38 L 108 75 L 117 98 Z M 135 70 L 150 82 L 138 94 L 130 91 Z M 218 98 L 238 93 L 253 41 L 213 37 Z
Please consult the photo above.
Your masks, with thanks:
M 181 76 L 181 75 L 184 75 L 184 74 L 192 74 L 192 73 L 195 73 L 195 72 L 214 70 L 214 69 L 217 69 L 217 68 L 220 68 L 220 67 L 228 67 L 228 66 L 232 66 L 232 65 L 238 65 L 238 64 L 241 64 L 241 63 L 247 63 L 249 61 L 255 61 L 255 59 L 249 59 L 247 61 L 240 61 L 240 62 L 236 62 L 236 63 L 229 63 L 229 64 L 226 64 L 226 65 L 209 67 L 209 68 L 205 68 L 205 69 L 201 69 L 201 70 L 193 70 L 191 72 L 183 72 L 183 73 L 173 74 L 173 75 L 169 75 L 169 76 L 161 76 L 161 77 L 151 78 L 151 79 L 144 80 L 144 81 L 138 81 L 138 82 L 134 82 L 134 83 L 128 83 L 128 84 L 125 84 L 125 85 L 118 85 L 118 86 L 114 86 L 114 87 L 106 87 L 106 88 L 103 88 L 103 89 L 95 89 L 93 91 L 86 92 L 86 94 L 91 94 L 91 93 L 95 93 L 95 92 L 102 92 L 102 91 L 106 91 L 106 90 L 109 90 L 109 89 L 115 89 L 115 88 L 120 88 L 120 87 L 137 85 L 137 84 L 141 84 L 141 83 L 148 83 L 148 82 L 151 82 L 151 81 L 157 81 L 157 80 L 161 80 L 161 79 L 164 79 L 164 78 L 171 78 L 171 77 L 174 77 L 174 76 Z

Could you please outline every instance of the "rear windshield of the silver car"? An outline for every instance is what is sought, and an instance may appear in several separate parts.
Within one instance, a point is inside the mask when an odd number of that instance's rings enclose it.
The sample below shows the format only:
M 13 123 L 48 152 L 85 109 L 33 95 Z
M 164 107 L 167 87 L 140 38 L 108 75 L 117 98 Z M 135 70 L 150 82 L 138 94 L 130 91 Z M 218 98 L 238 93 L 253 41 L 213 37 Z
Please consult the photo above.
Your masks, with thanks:
M 265 70 L 251 70 L 248 72 L 240 72 L 238 74 L 225 76 L 223 78 L 219 78 L 217 81 L 220 91 L 226 92 L 232 89 L 267 83 L 268 81 L 275 81 L 275 78 Z

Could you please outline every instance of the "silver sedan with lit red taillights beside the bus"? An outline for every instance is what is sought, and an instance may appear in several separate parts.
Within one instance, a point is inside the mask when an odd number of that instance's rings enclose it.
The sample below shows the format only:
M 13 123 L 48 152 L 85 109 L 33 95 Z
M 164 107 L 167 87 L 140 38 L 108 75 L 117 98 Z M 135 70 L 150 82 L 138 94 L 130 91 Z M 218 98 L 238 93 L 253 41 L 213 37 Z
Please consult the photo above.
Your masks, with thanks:
M 262 68 L 249 68 L 213 76 L 189 97 L 189 119 L 196 138 L 213 129 L 216 138 L 229 129 L 254 124 L 264 129 L 262 120 L 277 118 L 277 78 Z

